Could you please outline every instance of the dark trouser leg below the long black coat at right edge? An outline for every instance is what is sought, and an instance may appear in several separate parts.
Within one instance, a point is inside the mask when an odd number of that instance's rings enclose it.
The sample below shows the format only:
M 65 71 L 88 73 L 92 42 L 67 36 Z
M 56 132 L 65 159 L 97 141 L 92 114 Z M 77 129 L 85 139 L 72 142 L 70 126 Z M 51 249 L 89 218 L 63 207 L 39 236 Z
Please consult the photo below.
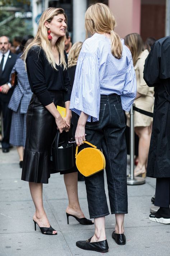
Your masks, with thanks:
M 155 205 L 170 206 L 170 178 L 156 178 Z

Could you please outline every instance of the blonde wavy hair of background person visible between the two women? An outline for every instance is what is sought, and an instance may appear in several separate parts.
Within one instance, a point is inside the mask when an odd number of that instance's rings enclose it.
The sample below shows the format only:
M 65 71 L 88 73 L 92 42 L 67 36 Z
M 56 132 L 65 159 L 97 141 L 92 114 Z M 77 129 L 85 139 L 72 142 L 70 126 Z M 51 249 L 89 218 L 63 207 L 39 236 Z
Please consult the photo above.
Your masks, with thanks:
M 82 42 L 75 42 L 69 51 L 68 68 L 75 66 L 81 51 Z

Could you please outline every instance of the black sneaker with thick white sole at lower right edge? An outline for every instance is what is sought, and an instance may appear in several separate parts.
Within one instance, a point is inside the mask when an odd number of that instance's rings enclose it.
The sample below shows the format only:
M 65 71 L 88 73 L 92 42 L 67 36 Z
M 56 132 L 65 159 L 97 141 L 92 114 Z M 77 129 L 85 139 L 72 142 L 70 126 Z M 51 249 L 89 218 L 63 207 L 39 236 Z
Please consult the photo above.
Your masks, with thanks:
M 170 209 L 160 207 L 157 212 L 149 215 L 149 219 L 162 224 L 170 224 Z

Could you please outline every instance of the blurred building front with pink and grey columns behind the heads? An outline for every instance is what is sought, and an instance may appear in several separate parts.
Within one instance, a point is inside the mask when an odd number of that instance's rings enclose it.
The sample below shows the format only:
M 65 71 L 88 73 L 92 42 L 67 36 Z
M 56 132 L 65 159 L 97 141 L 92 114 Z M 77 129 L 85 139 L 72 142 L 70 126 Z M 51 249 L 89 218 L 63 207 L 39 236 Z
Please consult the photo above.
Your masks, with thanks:
M 95 0 L 32 0 L 33 32 L 36 34 L 38 19 L 48 7 L 61 7 L 68 17 L 68 30 L 72 42 L 85 40 L 84 16 Z M 123 38 L 137 32 L 145 41 L 147 37 L 159 39 L 169 35 L 170 0 L 105 0 L 117 21 L 115 31 Z M 166 22 L 167 21 L 167 22 Z

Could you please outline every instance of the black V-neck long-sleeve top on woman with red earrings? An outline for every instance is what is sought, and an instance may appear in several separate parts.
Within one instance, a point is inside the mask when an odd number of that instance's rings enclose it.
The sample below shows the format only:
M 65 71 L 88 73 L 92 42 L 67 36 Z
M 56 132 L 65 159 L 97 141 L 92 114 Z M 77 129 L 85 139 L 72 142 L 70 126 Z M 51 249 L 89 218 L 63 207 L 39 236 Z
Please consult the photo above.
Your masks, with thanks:
M 67 54 L 65 53 L 65 60 Z M 56 71 L 49 64 L 42 48 L 33 46 L 27 54 L 26 58 L 27 74 L 31 90 L 40 102 L 46 106 L 53 102 L 49 91 L 64 91 L 65 102 L 71 97 L 70 77 L 67 69 L 63 70 L 63 66 L 56 64 Z

